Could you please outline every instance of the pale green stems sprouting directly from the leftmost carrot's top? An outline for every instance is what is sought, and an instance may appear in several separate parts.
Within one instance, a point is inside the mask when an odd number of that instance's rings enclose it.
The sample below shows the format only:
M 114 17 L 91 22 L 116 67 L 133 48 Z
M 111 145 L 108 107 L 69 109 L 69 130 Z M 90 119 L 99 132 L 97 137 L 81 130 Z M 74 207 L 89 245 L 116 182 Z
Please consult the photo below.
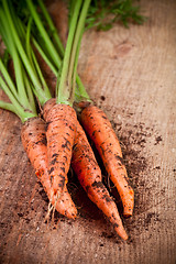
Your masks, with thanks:
M 24 65 L 20 58 L 18 47 L 14 42 L 12 29 L 10 26 L 9 16 L 7 16 L 7 6 L 3 1 L 3 7 L 0 7 L 0 32 L 2 40 L 7 46 L 7 53 L 13 59 L 13 68 L 15 80 L 11 77 L 8 70 L 8 64 L 0 59 L 0 86 L 9 97 L 10 102 L 0 102 L 0 107 L 14 112 L 22 122 L 31 117 L 36 117 L 36 108 L 34 97 L 31 90 L 31 81 L 24 69 Z M 3 9 L 4 8 L 4 9 Z

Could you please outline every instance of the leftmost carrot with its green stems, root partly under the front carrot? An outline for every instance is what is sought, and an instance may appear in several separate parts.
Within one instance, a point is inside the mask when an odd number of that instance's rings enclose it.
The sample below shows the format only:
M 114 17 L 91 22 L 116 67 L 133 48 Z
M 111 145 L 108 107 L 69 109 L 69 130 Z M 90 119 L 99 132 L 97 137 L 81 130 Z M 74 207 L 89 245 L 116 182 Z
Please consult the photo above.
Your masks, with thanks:
M 35 96 L 37 95 L 41 106 L 48 101 L 52 96 L 30 43 L 31 22 L 29 22 L 25 31 L 25 25 L 22 22 L 20 23 L 20 19 L 16 16 L 13 3 L 3 0 L 0 9 L 0 23 L 2 24 L 0 31 L 4 44 L 13 59 L 15 78 L 15 81 L 13 81 L 8 73 L 7 65 L 0 59 L 0 86 L 11 101 L 11 103 L 6 105 L 0 102 L 0 107 L 6 107 L 6 109 L 13 111 L 24 123 L 22 128 L 24 148 L 29 154 L 37 177 L 44 186 L 50 201 L 54 205 L 53 208 L 65 216 L 75 218 L 76 208 L 66 186 L 63 187 L 63 196 L 61 196 L 58 202 L 58 196 L 54 196 L 47 174 L 44 123 L 37 124 L 38 114 L 32 89 L 36 89 Z

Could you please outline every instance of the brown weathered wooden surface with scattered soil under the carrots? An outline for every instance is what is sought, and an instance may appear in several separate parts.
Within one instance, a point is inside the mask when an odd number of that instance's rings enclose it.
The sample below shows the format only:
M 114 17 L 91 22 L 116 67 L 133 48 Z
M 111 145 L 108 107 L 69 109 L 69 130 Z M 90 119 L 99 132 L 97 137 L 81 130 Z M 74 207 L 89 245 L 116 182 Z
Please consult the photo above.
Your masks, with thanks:
M 176 172 L 176 1 L 141 1 L 148 21 L 84 36 L 79 73 L 110 117 L 135 189 L 122 242 L 78 183 L 70 221 L 44 223 L 47 199 L 20 140 L 21 123 L 0 110 L 1 263 L 174 264 Z M 1 94 L 2 95 L 2 94 Z M 1 96 L 2 97 L 2 96 Z

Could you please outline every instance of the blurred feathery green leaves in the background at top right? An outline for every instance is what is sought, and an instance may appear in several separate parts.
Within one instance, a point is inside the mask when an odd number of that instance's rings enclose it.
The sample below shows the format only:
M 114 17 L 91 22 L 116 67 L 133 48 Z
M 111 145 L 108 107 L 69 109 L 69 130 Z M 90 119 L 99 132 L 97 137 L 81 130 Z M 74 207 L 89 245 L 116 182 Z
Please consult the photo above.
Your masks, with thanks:
M 26 1 L 12 0 L 12 2 L 15 6 L 16 13 L 26 21 L 30 16 Z M 41 6 L 40 2 L 41 0 L 33 0 L 35 7 Z M 68 6 L 69 18 L 72 18 L 73 7 L 76 1 L 66 0 L 65 2 Z M 140 4 L 136 4 L 134 0 L 91 0 L 86 18 L 86 29 L 96 28 L 97 30 L 107 31 L 116 22 L 122 22 L 128 28 L 130 22 L 142 24 L 145 20 L 146 18 L 140 13 Z M 43 20 L 43 23 L 45 24 L 45 20 Z M 52 31 L 50 33 L 52 34 Z

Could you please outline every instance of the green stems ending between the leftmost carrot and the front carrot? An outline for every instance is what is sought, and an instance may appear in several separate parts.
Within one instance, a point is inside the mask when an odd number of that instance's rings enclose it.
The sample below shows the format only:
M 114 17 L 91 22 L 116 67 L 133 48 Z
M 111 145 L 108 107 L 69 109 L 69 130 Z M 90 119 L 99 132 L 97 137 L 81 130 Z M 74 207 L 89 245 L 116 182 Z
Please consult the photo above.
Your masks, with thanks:
M 38 74 L 37 61 L 35 59 L 34 53 L 29 44 L 28 35 L 30 34 L 31 22 L 29 22 L 29 33 L 25 35 L 25 25 L 21 23 L 18 15 L 15 14 L 12 2 L 2 0 L 0 10 L 1 14 L 3 13 L 3 15 L 0 16 L 0 32 L 8 51 L 13 57 L 14 72 L 16 72 L 18 75 L 16 86 L 22 92 L 22 87 L 24 86 L 24 81 L 26 78 L 23 77 L 23 73 L 20 72 L 24 72 L 25 68 L 26 74 L 30 76 L 30 81 L 32 81 L 32 88 L 34 89 L 34 92 L 40 97 L 40 102 L 43 105 L 52 96 L 46 82 L 44 81 L 44 78 L 41 79 L 41 75 Z M 16 52 L 13 52 L 14 47 Z M 31 53 L 31 55 L 29 53 Z M 32 57 L 33 63 L 31 61 Z M 20 66 L 22 63 L 23 69 Z M 28 87 L 29 86 L 26 86 L 26 88 Z M 22 96 L 22 98 L 25 98 L 25 95 L 24 97 Z

